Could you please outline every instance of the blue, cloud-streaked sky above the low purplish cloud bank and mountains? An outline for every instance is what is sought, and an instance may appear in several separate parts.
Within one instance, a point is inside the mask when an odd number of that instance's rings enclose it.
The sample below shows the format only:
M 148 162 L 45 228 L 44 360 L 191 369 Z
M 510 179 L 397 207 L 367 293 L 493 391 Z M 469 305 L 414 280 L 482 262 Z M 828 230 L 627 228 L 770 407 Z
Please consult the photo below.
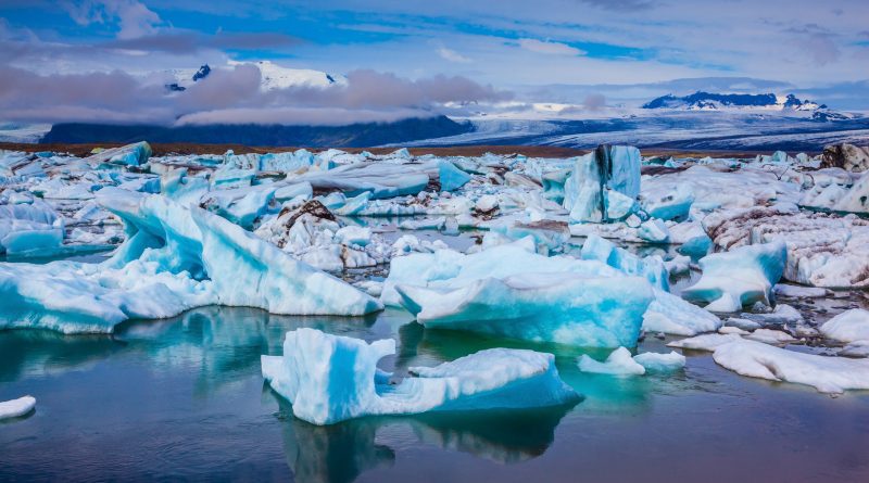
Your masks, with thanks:
M 0 63 L 144 76 L 270 60 L 554 102 L 767 89 L 864 110 L 867 18 L 865 0 L 0 0 Z

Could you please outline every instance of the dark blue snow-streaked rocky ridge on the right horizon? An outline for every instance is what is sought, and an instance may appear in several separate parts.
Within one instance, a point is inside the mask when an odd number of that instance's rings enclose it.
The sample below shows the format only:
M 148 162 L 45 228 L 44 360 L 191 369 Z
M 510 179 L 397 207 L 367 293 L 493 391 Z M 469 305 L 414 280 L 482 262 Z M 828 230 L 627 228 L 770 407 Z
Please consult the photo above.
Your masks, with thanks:
M 721 94 L 697 91 L 684 97 L 662 96 L 643 104 L 643 109 L 671 109 L 679 111 L 764 110 L 806 111 L 827 109 L 826 105 L 801 100 L 794 94 Z

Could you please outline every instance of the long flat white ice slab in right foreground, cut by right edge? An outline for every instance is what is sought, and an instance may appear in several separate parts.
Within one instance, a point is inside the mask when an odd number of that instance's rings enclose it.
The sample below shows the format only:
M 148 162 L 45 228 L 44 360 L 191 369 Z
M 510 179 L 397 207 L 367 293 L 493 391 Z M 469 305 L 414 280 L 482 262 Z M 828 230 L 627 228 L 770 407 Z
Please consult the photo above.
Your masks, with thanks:
M 869 360 L 805 354 L 755 341 L 718 346 L 713 359 L 739 374 L 814 386 L 822 393 L 869 389 Z

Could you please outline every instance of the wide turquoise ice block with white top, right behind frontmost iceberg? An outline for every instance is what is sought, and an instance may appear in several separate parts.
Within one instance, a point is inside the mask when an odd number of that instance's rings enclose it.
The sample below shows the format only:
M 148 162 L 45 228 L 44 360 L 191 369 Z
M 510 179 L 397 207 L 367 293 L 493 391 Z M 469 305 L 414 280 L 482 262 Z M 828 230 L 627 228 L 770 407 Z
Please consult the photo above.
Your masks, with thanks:
M 587 347 L 637 345 L 653 300 L 652 288 L 638 277 L 568 272 L 486 278 L 452 290 L 394 289 L 427 328 Z

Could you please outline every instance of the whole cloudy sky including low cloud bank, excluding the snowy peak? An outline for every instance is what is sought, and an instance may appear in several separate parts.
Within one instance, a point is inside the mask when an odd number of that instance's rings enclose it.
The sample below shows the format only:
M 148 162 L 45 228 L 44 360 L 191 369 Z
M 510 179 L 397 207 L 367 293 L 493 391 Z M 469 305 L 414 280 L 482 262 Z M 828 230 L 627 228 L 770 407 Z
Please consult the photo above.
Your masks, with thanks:
M 446 101 L 593 109 L 697 89 L 869 110 L 868 18 L 866 0 L 0 0 L 0 111 L 156 122 L 280 106 L 385 120 Z M 263 96 L 255 69 L 228 67 L 257 60 L 350 84 Z M 166 71 L 203 63 L 218 67 L 207 91 L 165 96 Z

